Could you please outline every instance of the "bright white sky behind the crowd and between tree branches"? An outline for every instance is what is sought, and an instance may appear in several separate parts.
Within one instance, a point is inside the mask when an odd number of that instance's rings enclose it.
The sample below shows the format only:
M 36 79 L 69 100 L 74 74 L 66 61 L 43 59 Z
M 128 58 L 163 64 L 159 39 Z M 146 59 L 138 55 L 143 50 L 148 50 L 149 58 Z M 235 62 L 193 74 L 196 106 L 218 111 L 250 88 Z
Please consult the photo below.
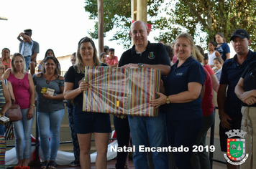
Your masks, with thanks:
M 32 29 L 32 39 L 40 44 L 37 59 L 43 59 L 47 49 L 53 49 L 56 57 L 73 54 L 79 40 L 89 37 L 88 31 L 94 25 L 84 6 L 85 0 L 0 0 L 0 16 L 8 19 L 0 20 L 0 49 L 7 47 L 11 54 L 19 52 L 19 33 Z M 106 34 L 104 45 L 114 48 L 120 58 L 126 49 L 109 41 L 112 35 Z M 150 32 L 148 40 L 155 42 L 155 36 L 157 32 Z M 98 40 L 93 40 L 98 49 Z

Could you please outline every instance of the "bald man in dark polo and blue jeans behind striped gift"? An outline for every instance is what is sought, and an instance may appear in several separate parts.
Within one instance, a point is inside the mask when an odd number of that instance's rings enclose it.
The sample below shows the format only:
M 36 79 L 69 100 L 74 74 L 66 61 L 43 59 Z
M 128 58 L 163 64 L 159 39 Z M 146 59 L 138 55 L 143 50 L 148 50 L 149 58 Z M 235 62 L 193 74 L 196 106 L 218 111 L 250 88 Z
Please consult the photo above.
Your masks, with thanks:
M 168 75 L 170 72 L 168 54 L 163 44 L 147 41 L 147 36 L 150 34 L 147 24 L 144 21 L 134 21 L 129 34 L 134 41 L 134 45 L 122 54 L 119 67 L 155 68 L 161 69 L 163 75 Z M 119 121 L 122 120 L 126 119 L 119 118 Z M 134 117 L 129 115 L 128 121 L 132 135 L 132 145 L 135 146 L 134 168 L 146 169 L 148 168 L 147 152 L 140 152 L 138 150 L 139 146 L 147 147 L 148 140 L 150 147 L 162 148 L 167 146 L 165 115 L 162 112 L 159 112 L 157 117 Z M 117 132 L 116 135 L 118 135 Z M 167 153 L 152 152 L 152 158 L 155 168 L 168 168 Z

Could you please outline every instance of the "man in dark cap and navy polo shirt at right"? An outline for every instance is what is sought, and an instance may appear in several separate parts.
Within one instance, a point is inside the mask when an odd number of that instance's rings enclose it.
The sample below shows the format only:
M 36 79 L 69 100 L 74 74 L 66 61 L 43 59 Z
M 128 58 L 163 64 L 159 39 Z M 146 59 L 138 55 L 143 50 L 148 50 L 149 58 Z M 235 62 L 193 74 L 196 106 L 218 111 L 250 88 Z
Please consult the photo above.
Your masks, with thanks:
M 239 130 L 241 128 L 242 106 L 241 101 L 234 93 L 234 88 L 247 65 L 256 60 L 256 53 L 248 48 L 251 39 L 244 29 L 234 31 L 230 40 L 237 54 L 223 64 L 217 95 L 219 119 L 221 121 L 219 124 L 219 137 L 221 151 L 223 152 L 227 152 L 228 137 L 225 132 L 233 129 Z M 227 163 L 227 168 L 239 168 L 239 165 Z

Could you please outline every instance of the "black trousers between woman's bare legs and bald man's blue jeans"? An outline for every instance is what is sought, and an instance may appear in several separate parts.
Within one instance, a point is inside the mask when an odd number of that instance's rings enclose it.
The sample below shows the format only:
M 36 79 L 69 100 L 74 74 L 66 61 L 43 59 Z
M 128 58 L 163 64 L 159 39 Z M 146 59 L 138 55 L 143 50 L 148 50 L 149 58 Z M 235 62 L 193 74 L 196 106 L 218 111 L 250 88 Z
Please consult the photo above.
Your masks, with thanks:
M 129 145 L 129 122 L 128 118 L 118 118 L 114 116 L 114 128 L 116 130 L 116 138 L 119 147 L 128 147 Z M 126 152 L 117 152 L 116 169 L 123 169 L 127 160 Z

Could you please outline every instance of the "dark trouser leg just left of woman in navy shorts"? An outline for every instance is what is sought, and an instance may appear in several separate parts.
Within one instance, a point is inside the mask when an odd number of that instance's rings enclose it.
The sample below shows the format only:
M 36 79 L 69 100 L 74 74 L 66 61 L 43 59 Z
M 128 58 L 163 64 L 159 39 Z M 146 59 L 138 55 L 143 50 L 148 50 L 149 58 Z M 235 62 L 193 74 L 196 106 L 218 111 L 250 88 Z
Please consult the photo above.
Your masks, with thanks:
M 75 132 L 75 127 L 74 127 L 74 112 L 73 112 L 73 107 L 70 108 L 68 107 L 68 123 L 69 123 L 69 128 L 70 128 L 70 133 L 71 133 L 71 138 L 73 141 L 73 151 L 74 151 L 74 156 L 76 161 L 80 161 L 80 148 L 79 148 L 79 143 L 78 143 L 78 135 Z

